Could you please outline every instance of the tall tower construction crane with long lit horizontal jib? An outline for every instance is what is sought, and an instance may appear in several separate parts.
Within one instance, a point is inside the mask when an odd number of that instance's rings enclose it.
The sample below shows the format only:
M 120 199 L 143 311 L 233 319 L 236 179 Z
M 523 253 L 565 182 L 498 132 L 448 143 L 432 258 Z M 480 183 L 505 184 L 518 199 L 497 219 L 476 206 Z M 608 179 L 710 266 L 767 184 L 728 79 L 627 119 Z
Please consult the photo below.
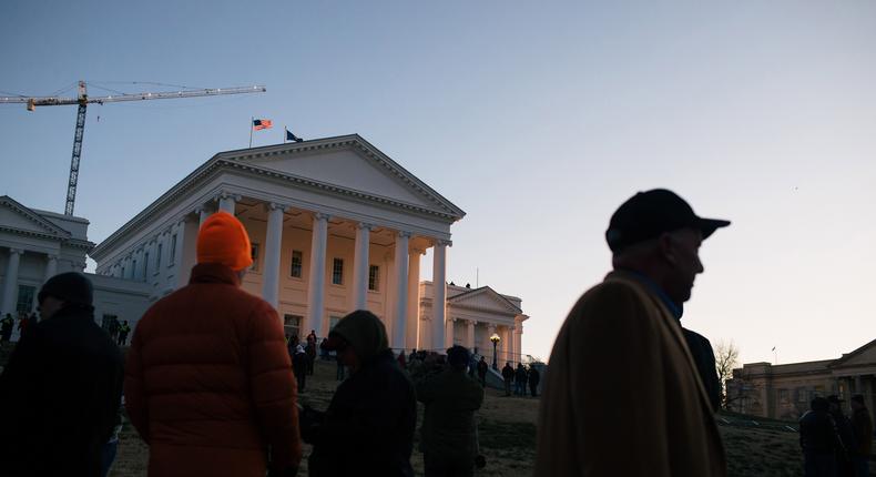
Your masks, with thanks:
M 120 93 L 109 97 L 89 98 L 85 88 L 85 82 L 79 82 L 79 97 L 78 98 L 59 98 L 59 97 L 0 97 L 0 103 L 27 103 L 28 111 L 33 111 L 37 106 L 61 106 L 61 105 L 79 105 L 77 113 L 77 130 L 73 134 L 73 156 L 70 160 L 70 180 L 67 185 L 67 204 L 64 205 L 64 215 L 73 215 L 73 205 L 77 201 L 77 183 L 79 182 L 79 160 L 82 155 L 82 134 L 85 132 L 85 108 L 89 103 L 115 103 L 122 101 L 143 101 L 143 100 L 170 100 L 180 98 L 198 98 L 198 97 L 216 97 L 220 94 L 245 94 L 245 93 L 263 93 L 267 91 L 265 87 L 236 87 L 236 88 L 216 88 L 216 89 L 190 89 L 183 91 L 170 92 L 155 92 L 155 93 Z

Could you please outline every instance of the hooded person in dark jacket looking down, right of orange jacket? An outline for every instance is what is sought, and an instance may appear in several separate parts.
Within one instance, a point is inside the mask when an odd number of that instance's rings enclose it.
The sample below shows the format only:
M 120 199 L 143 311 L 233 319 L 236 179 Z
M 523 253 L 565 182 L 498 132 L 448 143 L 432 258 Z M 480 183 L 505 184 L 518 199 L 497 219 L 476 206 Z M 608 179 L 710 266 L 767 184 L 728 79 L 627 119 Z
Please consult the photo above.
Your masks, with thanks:
M 322 347 L 335 351 L 350 376 L 338 385 L 325 413 L 302 413 L 302 437 L 314 446 L 309 475 L 412 476 L 417 400 L 389 349 L 383 322 L 374 313 L 355 311 L 335 325 Z

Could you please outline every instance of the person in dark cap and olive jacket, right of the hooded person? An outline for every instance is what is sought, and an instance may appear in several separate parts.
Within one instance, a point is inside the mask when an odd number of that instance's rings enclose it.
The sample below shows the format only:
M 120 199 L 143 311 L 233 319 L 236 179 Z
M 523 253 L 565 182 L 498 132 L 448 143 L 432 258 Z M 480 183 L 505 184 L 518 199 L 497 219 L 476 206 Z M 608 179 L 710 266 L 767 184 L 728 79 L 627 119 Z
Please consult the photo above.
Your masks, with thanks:
M 471 476 L 478 455 L 475 412 L 483 404 L 483 388 L 466 375 L 468 349 L 447 351 L 441 373 L 417 380 L 417 400 L 426 405 L 420 450 L 426 477 Z

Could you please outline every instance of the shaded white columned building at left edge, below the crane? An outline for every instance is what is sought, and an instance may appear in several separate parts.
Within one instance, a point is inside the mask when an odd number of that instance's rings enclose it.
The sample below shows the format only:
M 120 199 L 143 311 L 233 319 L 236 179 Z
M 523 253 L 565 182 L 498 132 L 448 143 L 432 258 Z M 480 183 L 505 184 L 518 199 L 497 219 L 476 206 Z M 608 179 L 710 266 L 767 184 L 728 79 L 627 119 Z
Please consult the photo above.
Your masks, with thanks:
M 0 313 L 2 316 L 35 312 L 37 294 L 45 281 L 63 272 L 82 272 L 85 254 L 94 244 L 88 240 L 89 221 L 82 217 L 27 207 L 0 196 Z M 134 323 L 149 306 L 149 287 L 85 274 L 94 284 L 94 317 L 109 328 L 113 322 Z M 12 339 L 18 339 L 18 326 Z

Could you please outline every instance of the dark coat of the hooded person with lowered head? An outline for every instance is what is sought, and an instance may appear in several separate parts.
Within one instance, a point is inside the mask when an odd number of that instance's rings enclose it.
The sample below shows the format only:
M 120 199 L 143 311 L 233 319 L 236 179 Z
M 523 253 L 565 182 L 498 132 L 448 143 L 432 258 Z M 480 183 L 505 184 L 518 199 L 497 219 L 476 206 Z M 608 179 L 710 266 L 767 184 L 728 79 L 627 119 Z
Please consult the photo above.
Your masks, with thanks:
M 414 385 L 386 349 L 338 386 L 323 422 L 310 432 L 308 473 L 412 476 L 416 422 Z

